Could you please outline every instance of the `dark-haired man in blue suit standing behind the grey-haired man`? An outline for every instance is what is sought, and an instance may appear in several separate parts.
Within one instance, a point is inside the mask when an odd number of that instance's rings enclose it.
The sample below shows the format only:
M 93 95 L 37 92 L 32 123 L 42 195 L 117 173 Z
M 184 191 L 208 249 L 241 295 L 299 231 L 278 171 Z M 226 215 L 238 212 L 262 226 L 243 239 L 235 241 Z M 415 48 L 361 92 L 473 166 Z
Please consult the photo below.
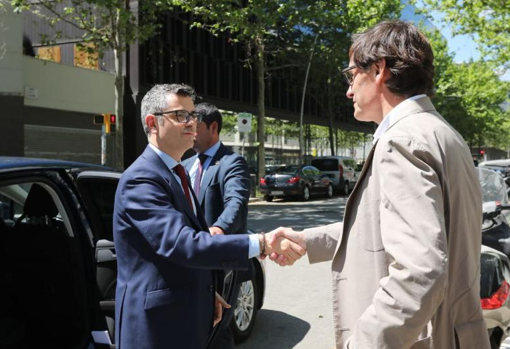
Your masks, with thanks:
M 211 235 L 246 234 L 250 173 L 246 160 L 227 149 L 220 141 L 223 118 L 214 105 L 201 103 L 196 111 L 202 116 L 197 126 L 193 150 L 197 155 L 183 165 L 188 170 Z M 244 273 L 246 274 L 246 273 Z M 238 280 L 245 281 L 245 280 Z M 235 288 L 237 298 L 239 286 Z M 223 319 L 212 349 L 233 349 L 233 334 L 228 326 L 233 311 Z

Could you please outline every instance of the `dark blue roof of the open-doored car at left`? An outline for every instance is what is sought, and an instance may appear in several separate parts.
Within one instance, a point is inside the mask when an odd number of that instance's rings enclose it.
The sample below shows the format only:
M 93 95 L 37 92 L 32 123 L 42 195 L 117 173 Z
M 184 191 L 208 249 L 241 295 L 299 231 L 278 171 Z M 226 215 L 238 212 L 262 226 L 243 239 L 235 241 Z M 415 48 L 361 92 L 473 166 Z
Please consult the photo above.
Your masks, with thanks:
M 108 167 L 104 167 L 97 164 L 88 164 L 84 162 L 0 156 L 0 171 L 28 168 L 87 169 L 87 170 L 114 171 L 113 169 Z

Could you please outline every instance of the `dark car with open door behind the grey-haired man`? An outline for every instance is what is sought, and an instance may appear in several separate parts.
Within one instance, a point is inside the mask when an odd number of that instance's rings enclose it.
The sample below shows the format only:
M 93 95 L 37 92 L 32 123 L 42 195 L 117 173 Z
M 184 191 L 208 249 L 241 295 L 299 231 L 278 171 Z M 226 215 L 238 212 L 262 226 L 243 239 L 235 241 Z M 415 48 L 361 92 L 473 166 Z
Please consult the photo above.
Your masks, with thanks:
M 112 216 L 120 173 L 76 162 L 0 157 L 0 348 L 114 348 Z M 236 341 L 253 328 L 264 264 L 228 272 Z M 192 324 L 191 324 L 192 325 Z M 218 331 L 217 326 L 210 341 Z

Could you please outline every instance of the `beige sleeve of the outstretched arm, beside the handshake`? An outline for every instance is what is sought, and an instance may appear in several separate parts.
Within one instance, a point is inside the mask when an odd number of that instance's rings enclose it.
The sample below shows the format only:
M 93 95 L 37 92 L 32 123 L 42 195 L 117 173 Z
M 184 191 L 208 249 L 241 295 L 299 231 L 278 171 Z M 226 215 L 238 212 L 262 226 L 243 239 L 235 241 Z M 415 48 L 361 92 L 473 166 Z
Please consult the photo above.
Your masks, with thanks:
M 305 229 L 306 252 L 311 264 L 333 259 L 340 243 L 343 223 L 333 223 L 321 227 Z

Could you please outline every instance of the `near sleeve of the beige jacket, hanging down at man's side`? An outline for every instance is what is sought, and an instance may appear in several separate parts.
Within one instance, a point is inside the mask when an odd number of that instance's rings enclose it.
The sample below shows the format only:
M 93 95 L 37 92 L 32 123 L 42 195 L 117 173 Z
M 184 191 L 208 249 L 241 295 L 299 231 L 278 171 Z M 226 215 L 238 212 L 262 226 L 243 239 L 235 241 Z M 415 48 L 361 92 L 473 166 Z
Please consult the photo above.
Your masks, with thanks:
M 377 145 L 380 227 L 388 260 L 347 348 L 408 349 L 444 299 L 447 236 L 441 159 L 410 137 Z

